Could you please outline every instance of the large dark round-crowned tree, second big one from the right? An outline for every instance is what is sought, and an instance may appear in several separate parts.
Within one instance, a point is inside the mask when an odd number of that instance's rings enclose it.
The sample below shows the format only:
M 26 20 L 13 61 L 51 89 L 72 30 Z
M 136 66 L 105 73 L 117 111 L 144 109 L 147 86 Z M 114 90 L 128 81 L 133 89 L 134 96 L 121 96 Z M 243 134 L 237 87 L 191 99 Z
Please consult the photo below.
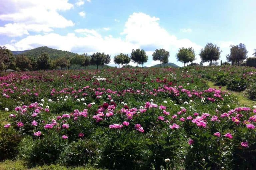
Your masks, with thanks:
M 212 61 L 217 61 L 220 58 L 220 47 L 217 47 L 216 44 L 207 43 L 204 49 L 200 51 L 200 57 L 202 62 L 210 61 L 210 65 L 212 65 Z

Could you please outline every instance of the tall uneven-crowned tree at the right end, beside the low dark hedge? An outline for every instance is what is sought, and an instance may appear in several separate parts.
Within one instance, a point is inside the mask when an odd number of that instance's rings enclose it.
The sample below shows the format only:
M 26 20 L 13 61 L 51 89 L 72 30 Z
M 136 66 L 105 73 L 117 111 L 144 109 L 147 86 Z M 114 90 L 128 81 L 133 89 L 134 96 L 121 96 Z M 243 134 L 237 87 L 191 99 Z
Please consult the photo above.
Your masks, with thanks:
M 226 55 L 228 61 L 234 62 L 236 65 L 240 65 L 240 61 L 243 61 L 247 58 L 247 49 L 245 44 L 240 43 L 239 45 L 230 45 L 230 54 Z

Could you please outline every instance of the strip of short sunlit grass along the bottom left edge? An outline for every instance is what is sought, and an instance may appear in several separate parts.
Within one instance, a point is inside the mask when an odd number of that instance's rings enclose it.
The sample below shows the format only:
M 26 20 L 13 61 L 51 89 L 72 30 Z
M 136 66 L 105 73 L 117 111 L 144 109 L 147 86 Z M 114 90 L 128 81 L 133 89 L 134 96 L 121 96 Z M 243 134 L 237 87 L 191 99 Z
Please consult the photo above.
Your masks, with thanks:
M 92 166 L 83 166 L 83 167 L 72 167 L 67 168 L 60 165 L 43 165 L 36 166 L 33 168 L 28 168 L 25 162 L 22 160 L 5 160 L 0 162 L 0 170 L 103 170 L 96 169 Z

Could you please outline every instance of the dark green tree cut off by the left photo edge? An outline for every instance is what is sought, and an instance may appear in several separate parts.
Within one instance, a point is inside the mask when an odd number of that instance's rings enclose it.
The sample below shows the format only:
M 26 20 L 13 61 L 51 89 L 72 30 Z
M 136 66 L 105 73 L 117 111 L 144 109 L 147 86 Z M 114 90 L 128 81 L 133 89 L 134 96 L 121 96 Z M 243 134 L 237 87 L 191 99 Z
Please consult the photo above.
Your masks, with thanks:
M 14 69 L 16 60 L 13 57 L 12 52 L 5 46 L 0 46 L 0 71 L 6 70 L 7 68 Z

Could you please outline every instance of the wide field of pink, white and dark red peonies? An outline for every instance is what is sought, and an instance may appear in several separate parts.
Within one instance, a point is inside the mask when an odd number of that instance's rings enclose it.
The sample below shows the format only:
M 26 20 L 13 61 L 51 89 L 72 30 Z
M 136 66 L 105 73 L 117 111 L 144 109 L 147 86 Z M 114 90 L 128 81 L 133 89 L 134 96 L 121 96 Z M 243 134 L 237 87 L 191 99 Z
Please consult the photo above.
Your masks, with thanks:
M 254 169 L 256 69 L 34 71 L 0 77 L 0 160 L 107 169 Z

